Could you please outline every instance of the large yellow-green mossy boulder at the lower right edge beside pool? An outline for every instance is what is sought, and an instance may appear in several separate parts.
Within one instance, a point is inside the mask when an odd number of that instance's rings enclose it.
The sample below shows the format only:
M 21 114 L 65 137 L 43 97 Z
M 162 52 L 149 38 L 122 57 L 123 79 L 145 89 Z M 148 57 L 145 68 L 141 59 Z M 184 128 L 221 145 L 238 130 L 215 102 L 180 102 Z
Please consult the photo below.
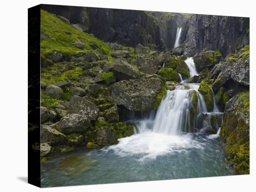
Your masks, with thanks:
M 249 91 L 244 91 L 227 102 L 220 131 L 228 160 L 238 174 L 249 174 L 249 132 Z

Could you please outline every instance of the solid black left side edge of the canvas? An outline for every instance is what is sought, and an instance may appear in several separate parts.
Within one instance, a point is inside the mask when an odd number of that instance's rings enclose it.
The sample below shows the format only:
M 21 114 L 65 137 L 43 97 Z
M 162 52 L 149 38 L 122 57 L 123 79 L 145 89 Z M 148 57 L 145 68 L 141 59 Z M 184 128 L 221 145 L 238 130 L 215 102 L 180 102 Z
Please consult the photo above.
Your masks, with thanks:
M 38 187 L 40 187 L 40 7 L 37 5 L 28 8 L 28 183 Z

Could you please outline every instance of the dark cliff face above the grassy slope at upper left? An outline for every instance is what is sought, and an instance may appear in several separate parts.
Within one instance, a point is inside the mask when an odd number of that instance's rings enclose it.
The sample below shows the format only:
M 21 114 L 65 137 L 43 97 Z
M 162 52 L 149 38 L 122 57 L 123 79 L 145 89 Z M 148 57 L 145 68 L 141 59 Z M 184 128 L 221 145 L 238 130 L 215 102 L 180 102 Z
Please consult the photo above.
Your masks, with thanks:
M 86 26 L 89 33 L 104 41 L 164 48 L 160 27 L 144 11 L 54 5 L 42 5 L 42 8 L 66 17 L 71 23 Z

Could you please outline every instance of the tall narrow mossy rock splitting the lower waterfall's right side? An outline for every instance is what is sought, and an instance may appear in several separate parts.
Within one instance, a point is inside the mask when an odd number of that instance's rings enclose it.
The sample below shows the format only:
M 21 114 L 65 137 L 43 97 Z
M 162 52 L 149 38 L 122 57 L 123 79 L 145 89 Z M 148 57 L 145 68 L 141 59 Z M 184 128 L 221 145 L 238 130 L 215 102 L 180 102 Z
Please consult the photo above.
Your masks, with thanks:
M 199 87 L 198 91 L 202 94 L 202 96 L 204 98 L 204 102 L 205 102 L 207 110 L 212 111 L 213 110 L 213 95 L 212 95 L 212 90 L 211 90 L 210 86 L 205 81 L 202 81 L 200 83 L 200 87 Z

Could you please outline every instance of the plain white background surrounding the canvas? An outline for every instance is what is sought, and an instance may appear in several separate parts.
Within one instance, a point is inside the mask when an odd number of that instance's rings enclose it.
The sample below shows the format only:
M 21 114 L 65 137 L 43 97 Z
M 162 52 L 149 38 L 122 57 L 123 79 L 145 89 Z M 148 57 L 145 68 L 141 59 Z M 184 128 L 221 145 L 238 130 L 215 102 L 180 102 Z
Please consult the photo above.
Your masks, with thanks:
M 250 17 L 250 175 L 201 179 L 72 186 L 47 192 L 196 191 L 251 192 L 256 190 L 255 146 L 255 5 L 253 0 L 2 0 L 0 10 L 0 191 L 37 192 L 27 184 L 27 8 L 40 3 L 125 8 L 178 13 Z M 254 118 L 253 118 L 254 117 Z

